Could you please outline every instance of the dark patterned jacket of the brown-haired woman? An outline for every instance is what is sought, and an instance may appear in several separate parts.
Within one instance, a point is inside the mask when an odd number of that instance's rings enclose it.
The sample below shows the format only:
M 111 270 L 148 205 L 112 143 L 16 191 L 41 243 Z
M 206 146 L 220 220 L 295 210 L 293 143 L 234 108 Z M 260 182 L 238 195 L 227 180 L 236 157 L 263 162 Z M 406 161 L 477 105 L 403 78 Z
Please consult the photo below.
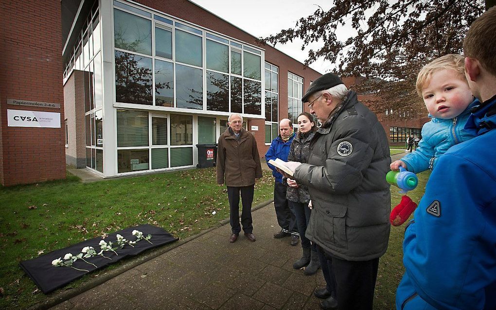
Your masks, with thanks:
M 310 154 L 310 141 L 314 134 L 315 132 L 312 131 L 305 137 L 300 132 L 296 134 L 293 142 L 291 142 L 288 161 L 307 163 Z M 294 202 L 308 203 L 310 201 L 309 188 L 305 185 L 298 185 L 298 187 L 288 186 L 286 199 Z

